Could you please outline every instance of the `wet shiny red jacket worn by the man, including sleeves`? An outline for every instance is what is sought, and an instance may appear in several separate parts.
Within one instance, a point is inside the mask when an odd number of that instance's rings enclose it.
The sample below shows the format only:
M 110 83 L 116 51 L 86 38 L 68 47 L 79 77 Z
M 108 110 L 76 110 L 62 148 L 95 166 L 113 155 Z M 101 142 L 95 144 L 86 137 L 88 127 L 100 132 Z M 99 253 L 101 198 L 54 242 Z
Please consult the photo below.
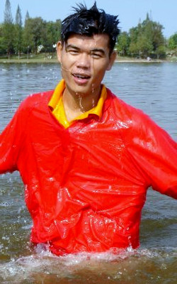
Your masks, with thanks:
M 147 188 L 177 198 L 176 142 L 109 90 L 101 119 L 64 129 L 52 93 L 25 99 L 1 134 L 0 173 L 21 173 L 31 241 L 57 255 L 137 248 Z

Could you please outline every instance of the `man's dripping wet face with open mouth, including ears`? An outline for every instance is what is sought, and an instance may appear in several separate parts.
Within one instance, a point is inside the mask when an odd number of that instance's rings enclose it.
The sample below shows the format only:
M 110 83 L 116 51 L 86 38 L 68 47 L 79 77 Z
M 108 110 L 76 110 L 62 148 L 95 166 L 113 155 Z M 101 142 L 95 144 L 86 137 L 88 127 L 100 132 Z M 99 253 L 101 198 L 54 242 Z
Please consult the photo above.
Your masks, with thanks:
M 106 70 L 115 60 L 108 48 L 108 35 L 70 35 L 67 43 L 58 43 L 57 55 L 62 67 L 66 92 L 89 96 L 98 94 Z

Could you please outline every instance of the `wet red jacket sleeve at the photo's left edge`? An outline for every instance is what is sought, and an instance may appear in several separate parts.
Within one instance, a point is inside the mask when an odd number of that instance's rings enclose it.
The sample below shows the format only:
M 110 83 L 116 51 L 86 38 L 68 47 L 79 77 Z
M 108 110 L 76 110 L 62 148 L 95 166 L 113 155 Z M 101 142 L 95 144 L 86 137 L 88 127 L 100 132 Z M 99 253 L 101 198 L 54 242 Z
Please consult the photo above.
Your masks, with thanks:
M 0 136 L 0 173 L 18 170 L 17 159 L 23 133 L 21 106 Z

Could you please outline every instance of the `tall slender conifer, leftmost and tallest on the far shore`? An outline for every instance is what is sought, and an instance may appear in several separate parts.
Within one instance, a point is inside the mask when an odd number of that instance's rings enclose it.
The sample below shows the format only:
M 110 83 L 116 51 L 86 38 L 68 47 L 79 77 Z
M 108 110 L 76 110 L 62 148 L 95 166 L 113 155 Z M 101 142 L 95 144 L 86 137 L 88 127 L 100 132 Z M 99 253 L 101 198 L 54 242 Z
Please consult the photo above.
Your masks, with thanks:
M 3 25 L 3 45 L 6 46 L 6 53 L 8 54 L 8 57 L 10 57 L 11 53 L 13 53 L 13 38 L 14 29 L 11 14 L 11 3 L 9 0 L 6 0 Z

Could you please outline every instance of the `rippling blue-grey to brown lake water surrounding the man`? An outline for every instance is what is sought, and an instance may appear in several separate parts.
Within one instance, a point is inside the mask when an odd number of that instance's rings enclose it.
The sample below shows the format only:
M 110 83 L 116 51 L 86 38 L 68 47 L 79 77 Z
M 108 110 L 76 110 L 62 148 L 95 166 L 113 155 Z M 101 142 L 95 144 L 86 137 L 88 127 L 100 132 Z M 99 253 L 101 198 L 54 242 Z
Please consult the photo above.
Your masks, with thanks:
M 177 138 L 177 63 L 115 63 L 105 84 Z M 29 94 L 53 89 L 59 65 L 0 64 L 0 131 Z M 111 253 L 52 256 L 29 243 L 31 220 L 18 173 L 0 176 L 0 283 L 177 283 L 176 200 L 153 190 L 142 212 L 141 246 Z

